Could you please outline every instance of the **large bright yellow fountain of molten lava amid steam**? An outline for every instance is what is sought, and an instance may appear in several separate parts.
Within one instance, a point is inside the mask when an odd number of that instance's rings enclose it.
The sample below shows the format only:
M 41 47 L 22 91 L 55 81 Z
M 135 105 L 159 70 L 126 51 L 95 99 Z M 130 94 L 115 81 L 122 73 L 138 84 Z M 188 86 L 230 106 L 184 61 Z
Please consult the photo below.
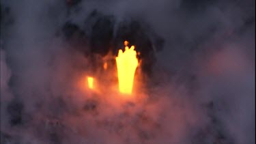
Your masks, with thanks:
M 121 93 L 131 94 L 134 74 L 139 62 L 136 57 L 137 52 L 134 51 L 134 46 L 129 48 L 127 41 L 124 42 L 124 45 L 126 46 L 124 53 L 120 49 L 118 56 L 115 58 L 117 61 L 119 91 Z

